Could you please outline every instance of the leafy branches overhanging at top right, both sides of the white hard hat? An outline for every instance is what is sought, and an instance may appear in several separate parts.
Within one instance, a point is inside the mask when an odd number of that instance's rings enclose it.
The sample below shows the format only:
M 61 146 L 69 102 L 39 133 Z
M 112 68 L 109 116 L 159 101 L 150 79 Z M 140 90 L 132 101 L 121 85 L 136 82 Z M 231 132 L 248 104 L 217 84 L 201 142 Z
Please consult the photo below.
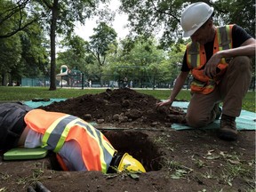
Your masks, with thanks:
M 139 35 L 155 36 L 163 33 L 161 44 L 169 47 L 182 37 L 180 15 L 188 4 L 185 0 L 120 0 L 120 10 L 128 14 L 131 31 Z M 243 0 L 204 1 L 215 8 L 216 23 L 236 23 L 252 35 L 255 28 L 255 2 Z

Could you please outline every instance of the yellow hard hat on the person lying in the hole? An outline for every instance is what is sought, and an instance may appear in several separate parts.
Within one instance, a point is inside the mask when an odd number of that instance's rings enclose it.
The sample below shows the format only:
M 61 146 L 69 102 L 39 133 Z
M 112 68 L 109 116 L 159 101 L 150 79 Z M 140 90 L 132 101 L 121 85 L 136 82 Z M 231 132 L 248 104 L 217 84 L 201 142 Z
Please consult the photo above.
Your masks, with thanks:
M 140 164 L 137 159 L 133 158 L 128 153 L 124 154 L 117 169 L 120 172 L 122 172 L 123 170 L 127 170 L 128 172 L 146 172 L 143 165 Z

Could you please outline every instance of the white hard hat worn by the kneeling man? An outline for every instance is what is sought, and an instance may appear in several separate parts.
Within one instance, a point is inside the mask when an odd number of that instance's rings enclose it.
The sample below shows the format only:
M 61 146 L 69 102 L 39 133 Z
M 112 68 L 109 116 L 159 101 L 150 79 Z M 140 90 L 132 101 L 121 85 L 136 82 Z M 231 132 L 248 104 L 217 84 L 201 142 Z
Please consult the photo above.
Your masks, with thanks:
M 181 27 L 184 31 L 183 36 L 192 36 L 211 17 L 213 10 L 213 7 L 204 2 L 188 5 L 182 12 L 180 19 Z

